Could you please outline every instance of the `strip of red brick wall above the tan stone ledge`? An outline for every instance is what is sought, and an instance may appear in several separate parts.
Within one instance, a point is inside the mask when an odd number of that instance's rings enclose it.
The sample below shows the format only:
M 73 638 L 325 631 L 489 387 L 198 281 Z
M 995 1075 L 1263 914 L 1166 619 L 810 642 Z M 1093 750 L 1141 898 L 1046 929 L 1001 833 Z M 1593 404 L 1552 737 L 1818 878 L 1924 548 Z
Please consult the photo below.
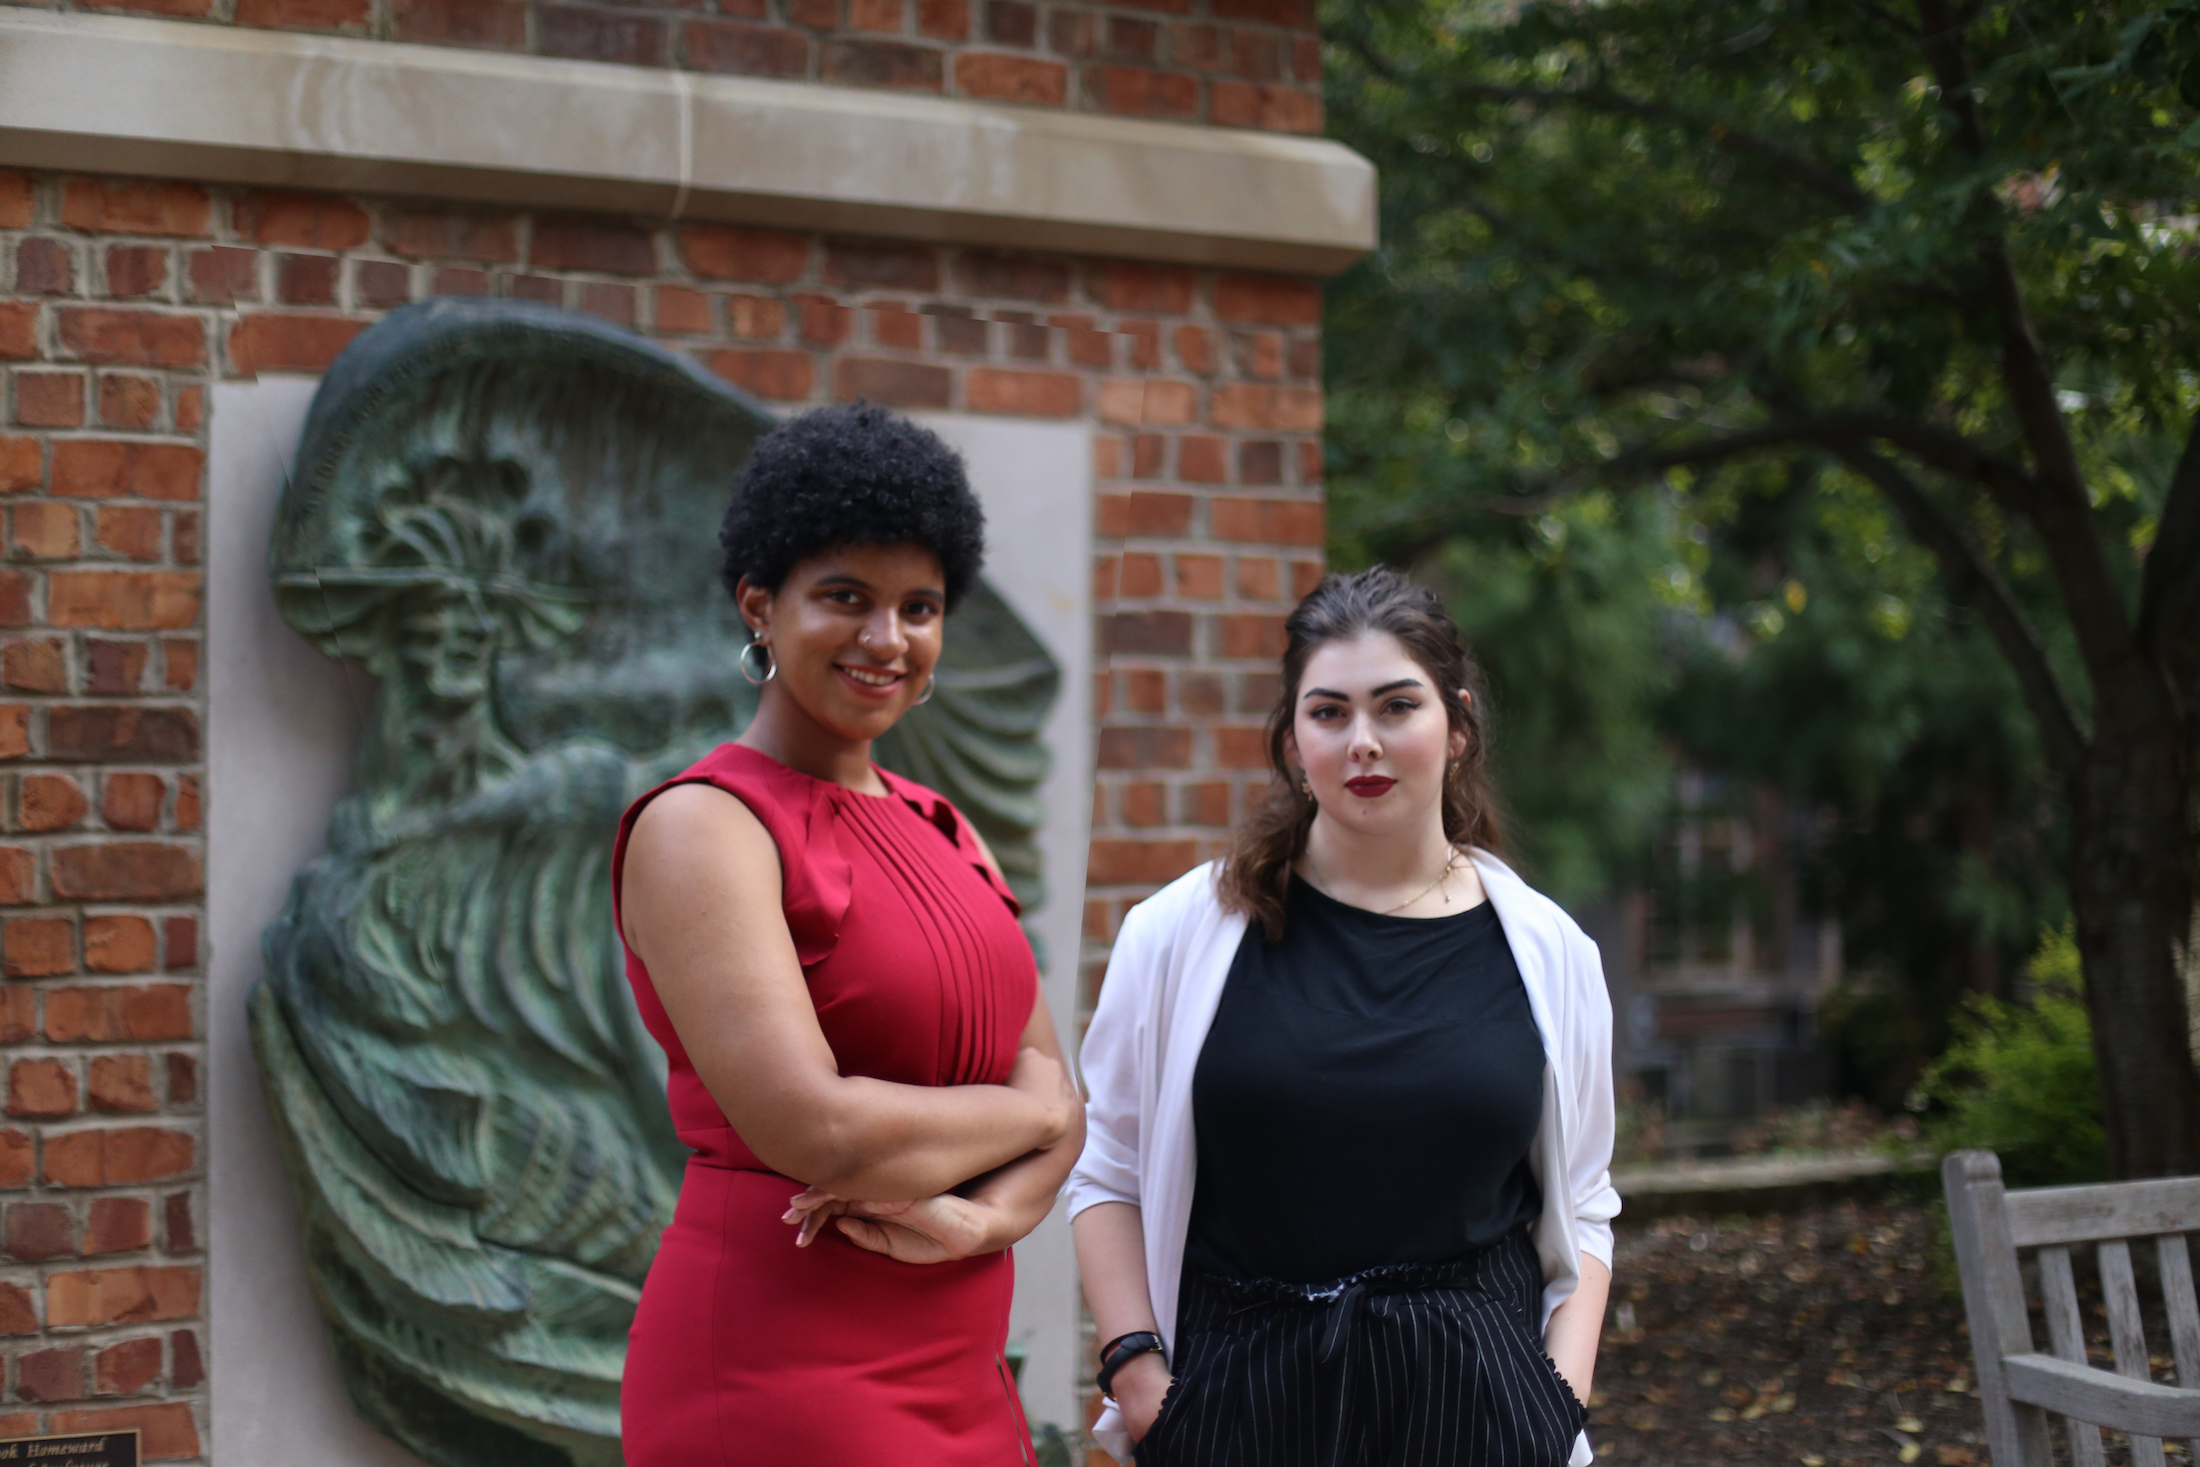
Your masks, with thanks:
M 1322 130 L 1313 0 L 0 0 Z

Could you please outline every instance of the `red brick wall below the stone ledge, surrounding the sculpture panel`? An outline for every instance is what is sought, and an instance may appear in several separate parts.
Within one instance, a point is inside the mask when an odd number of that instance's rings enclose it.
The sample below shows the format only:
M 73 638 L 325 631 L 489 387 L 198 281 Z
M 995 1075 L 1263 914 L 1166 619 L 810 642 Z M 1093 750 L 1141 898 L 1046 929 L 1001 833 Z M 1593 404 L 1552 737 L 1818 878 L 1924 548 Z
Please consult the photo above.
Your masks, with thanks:
M 1261 779 L 1320 565 L 1313 282 L 0 172 L 0 1434 L 205 1447 L 205 387 L 431 293 L 631 323 L 774 402 L 1096 422 L 1089 959 Z

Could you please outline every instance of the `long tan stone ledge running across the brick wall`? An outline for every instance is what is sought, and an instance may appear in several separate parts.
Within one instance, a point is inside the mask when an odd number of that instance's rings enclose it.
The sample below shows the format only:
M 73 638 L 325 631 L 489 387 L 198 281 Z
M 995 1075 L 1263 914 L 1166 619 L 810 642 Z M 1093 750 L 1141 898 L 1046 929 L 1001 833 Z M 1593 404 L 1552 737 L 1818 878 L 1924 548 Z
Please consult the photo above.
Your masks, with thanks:
M 0 165 L 1329 275 L 1327 139 L 495 51 L 0 9 Z

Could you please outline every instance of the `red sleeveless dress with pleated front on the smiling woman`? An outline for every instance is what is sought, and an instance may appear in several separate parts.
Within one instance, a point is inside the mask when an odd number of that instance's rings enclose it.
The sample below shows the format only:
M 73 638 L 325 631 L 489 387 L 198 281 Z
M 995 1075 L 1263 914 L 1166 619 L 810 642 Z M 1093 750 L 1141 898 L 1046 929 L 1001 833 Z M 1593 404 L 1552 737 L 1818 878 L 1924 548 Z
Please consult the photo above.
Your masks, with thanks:
M 627 812 L 614 902 L 642 805 L 671 785 L 717 785 L 779 847 L 788 930 L 840 1073 L 1001 1084 L 1038 996 L 1016 902 L 946 798 L 880 779 L 891 794 L 858 794 L 724 743 Z M 1030 1460 L 1003 1361 L 1008 1251 L 909 1265 L 834 1227 L 796 1249 L 779 1214 L 801 1183 L 726 1124 L 631 948 L 627 977 L 693 1150 L 629 1333 L 627 1467 Z

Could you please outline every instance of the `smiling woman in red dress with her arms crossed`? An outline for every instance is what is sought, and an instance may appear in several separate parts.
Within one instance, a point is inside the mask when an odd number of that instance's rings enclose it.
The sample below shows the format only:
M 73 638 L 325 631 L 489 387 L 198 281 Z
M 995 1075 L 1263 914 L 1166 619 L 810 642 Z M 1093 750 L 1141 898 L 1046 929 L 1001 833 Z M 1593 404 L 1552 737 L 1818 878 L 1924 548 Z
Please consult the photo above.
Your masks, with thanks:
M 627 974 L 693 1150 L 634 1315 L 629 1467 L 1008 1467 L 1008 1247 L 1085 1137 L 1016 902 L 871 763 L 931 695 L 983 515 L 856 402 L 750 455 L 719 534 L 757 717 L 627 812 Z

